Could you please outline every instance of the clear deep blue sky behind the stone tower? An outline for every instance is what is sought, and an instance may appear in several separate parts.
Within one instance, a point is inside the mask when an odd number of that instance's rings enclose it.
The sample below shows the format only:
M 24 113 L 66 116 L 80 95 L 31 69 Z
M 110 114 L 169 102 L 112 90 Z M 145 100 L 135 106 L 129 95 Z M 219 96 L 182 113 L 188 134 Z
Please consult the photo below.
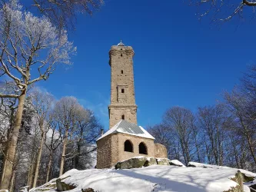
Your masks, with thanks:
M 254 23 L 217 28 L 198 22 L 196 8 L 183 1 L 105 0 L 92 17 L 79 16 L 69 38 L 78 47 L 74 65 L 58 68 L 37 85 L 55 95 L 72 95 L 95 111 L 108 129 L 108 51 L 120 38 L 135 50 L 138 124 L 157 124 L 173 106 L 196 111 L 214 104 L 254 63 Z

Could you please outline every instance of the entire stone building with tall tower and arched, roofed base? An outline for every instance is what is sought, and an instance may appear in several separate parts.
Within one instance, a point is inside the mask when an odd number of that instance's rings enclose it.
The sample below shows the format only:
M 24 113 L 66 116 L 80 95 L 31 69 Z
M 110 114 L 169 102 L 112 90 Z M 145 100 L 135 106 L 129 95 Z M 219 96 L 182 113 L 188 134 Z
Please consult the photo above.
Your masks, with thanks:
M 108 105 L 109 130 L 97 140 L 97 168 L 113 167 L 118 161 L 131 157 L 166 158 L 164 145 L 137 125 L 135 84 L 131 46 L 122 42 L 111 46 L 111 104 Z

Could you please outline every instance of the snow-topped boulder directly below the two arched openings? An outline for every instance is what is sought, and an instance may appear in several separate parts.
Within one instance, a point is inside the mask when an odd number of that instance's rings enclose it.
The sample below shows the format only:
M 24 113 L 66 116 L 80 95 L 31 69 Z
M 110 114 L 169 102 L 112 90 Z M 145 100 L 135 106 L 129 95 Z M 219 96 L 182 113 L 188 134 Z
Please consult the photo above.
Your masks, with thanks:
M 115 169 L 131 169 L 140 168 L 147 161 L 146 157 L 134 157 L 126 161 L 121 161 L 115 164 Z

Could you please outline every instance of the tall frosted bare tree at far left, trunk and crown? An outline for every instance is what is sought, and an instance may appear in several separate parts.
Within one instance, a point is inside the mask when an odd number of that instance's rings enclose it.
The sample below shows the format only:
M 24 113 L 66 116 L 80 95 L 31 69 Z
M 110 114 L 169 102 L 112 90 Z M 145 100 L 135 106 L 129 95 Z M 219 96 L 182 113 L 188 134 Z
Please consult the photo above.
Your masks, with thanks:
M 38 18 L 22 12 L 21 5 L 5 3 L 0 9 L 0 66 L 3 74 L 16 86 L 15 94 L 0 93 L 0 98 L 17 98 L 18 109 L 12 138 L 9 142 L 8 162 L 1 189 L 8 189 L 22 123 L 22 111 L 28 86 L 47 80 L 55 65 L 71 64 L 70 55 L 75 52 L 65 31 L 58 31 L 48 18 Z M 37 68 L 32 72 L 32 68 Z

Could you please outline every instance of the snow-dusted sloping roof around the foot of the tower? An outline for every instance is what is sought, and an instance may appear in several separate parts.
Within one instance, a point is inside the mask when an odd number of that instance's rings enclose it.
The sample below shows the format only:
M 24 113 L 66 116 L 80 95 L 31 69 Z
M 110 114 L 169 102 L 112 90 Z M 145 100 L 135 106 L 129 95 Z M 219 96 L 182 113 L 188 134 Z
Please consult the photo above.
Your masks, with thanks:
M 155 139 L 151 134 L 148 133 L 148 131 L 145 131 L 145 129 L 141 126 L 138 126 L 137 124 L 133 124 L 131 122 L 121 120 L 118 122 L 118 124 L 115 124 L 114 127 L 112 127 L 110 130 L 105 132 L 101 137 L 98 138 L 100 140 L 103 137 L 106 137 L 109 134 L 115 134 L 115 133 L 122 133 L 122 134 L 131 134 L 138 137 L 145 137 L 149 139 Z M 97 141 L 98 141 L 97 140 Z

